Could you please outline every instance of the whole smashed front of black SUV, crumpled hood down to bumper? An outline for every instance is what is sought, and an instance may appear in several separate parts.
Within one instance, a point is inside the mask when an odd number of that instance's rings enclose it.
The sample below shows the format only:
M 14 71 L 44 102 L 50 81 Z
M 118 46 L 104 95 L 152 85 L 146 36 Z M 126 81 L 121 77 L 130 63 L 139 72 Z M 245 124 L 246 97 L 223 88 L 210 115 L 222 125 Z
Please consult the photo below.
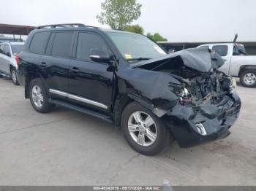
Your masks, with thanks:
M 164 95 L 140 91 L 140 96 L 151 100 L 154 109 L 165 111 L 160 117 L 180 147 L 192 147 L 230 134 L 241 101 L 235 92 L 235 79 L 217 70 L 222 65 L 222 58 L 216 52 L 202 48 L 175 52 L 133 66 L 164 74 L 162 84 L 155 81 L 152 85 L 158 87 L 151 90 L 159 92 L 162 87 Z M 171 79 L 168 83 L 166 74 Z

